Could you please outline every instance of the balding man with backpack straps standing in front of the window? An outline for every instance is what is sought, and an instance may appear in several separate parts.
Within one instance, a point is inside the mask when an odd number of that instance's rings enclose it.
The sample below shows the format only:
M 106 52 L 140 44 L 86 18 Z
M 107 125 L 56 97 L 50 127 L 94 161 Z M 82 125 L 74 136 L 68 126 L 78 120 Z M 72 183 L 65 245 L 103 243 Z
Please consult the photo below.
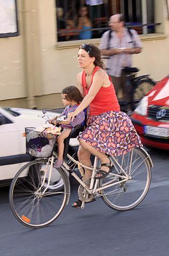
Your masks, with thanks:
M 110 30 L 102 35 L 99 48 L 102 55 L 107 57 L 107 72 L 114 84 L 116 95 L 122 89 L 123 101 L 128 102 L 126 75 L 123 67 L 132 66 L 132 54 L 141 52 L 142 44 L 134 29 L 124 25 L 122 14 L 115 14 L 109 20 Z

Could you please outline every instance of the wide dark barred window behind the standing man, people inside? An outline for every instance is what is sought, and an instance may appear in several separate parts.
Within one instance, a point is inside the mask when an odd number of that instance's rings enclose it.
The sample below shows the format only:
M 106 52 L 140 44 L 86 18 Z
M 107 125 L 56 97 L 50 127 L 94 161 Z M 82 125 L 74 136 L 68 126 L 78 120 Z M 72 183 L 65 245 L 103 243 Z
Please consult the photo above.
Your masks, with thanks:
M 139 34 L 155 32 L 155 0 L 56 0 L 58 41 L 101 38 L 109 17 L 124 14 Z

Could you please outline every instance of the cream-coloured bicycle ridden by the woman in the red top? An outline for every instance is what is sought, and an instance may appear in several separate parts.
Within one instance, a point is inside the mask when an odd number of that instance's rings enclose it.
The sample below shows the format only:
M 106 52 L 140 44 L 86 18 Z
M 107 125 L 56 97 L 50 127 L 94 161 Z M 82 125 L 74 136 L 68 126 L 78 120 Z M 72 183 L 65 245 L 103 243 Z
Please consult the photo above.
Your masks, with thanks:
M 57 160 L 54 145 L 46 157 L 30 161 L 16 173 L 10 185 L 9 203 L 12 213 L 24 226 L 45 227 L 59 217 L 70 199 L 68 174 L 79 183 L 78 196 L 82 200 L 82 209 L 93 198 L 102 198 L 111 209 L 129 210 L 139 205 L 147 195 L 153 163 L 145 149 L 133 148 L 128 154 L 109 156 L 113 164 L 110 174 L 106 178 L 95 179 L 99 159 L 95 157 L 92 167 L 85 166 L 76 160 L 76 153 L 70 153 L 71 148 L 68 146 L 70 139 L 77 138 L 82 130 L 83 126 L 73 128 L 65 140 L 64 163 L 60 168 L 53 168 L 53 163 Z M 43 133 L 40 134 L 42 135 Z M 81 177 L 75 172 L 76 166 Z M 92 172 L 91 179 L 87 182 L 82 180 L 84 168 Z M 49 189 L 52 172 L 57 172 L 60 176 L 62 186 L 57 191 Z

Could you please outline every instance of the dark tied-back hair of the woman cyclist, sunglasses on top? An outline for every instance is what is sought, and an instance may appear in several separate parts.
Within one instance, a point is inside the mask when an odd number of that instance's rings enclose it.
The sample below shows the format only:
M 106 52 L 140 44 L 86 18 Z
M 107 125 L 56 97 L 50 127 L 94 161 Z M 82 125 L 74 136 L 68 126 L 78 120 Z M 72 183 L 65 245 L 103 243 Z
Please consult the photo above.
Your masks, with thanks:
M 105 65 L 101 59 L 101 51 L 96 45 L 93 45 L 92 43 L 89 43 L 89 45 L 83 43 L 83 45 L 81 45 L 79 49 L 84 49 L 89 54 L 90 58 L 95 57 L 95 66 L 99 66 L 103 69 L 105 68 Z

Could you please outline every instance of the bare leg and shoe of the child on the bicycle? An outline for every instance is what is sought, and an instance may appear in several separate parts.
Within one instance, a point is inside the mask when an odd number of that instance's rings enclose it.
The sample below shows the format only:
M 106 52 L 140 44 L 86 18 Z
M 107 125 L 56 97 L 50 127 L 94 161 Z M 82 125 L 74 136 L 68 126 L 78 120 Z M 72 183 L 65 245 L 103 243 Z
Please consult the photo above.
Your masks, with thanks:
M 64 140 L 70 135 L 71 129 L 62 130 L 61 134 L 57 138 L 58 144 L 58 160 L 54 164 L 55 168 L 59 168 L 63 163 L 63 155 L 64 155 Z

